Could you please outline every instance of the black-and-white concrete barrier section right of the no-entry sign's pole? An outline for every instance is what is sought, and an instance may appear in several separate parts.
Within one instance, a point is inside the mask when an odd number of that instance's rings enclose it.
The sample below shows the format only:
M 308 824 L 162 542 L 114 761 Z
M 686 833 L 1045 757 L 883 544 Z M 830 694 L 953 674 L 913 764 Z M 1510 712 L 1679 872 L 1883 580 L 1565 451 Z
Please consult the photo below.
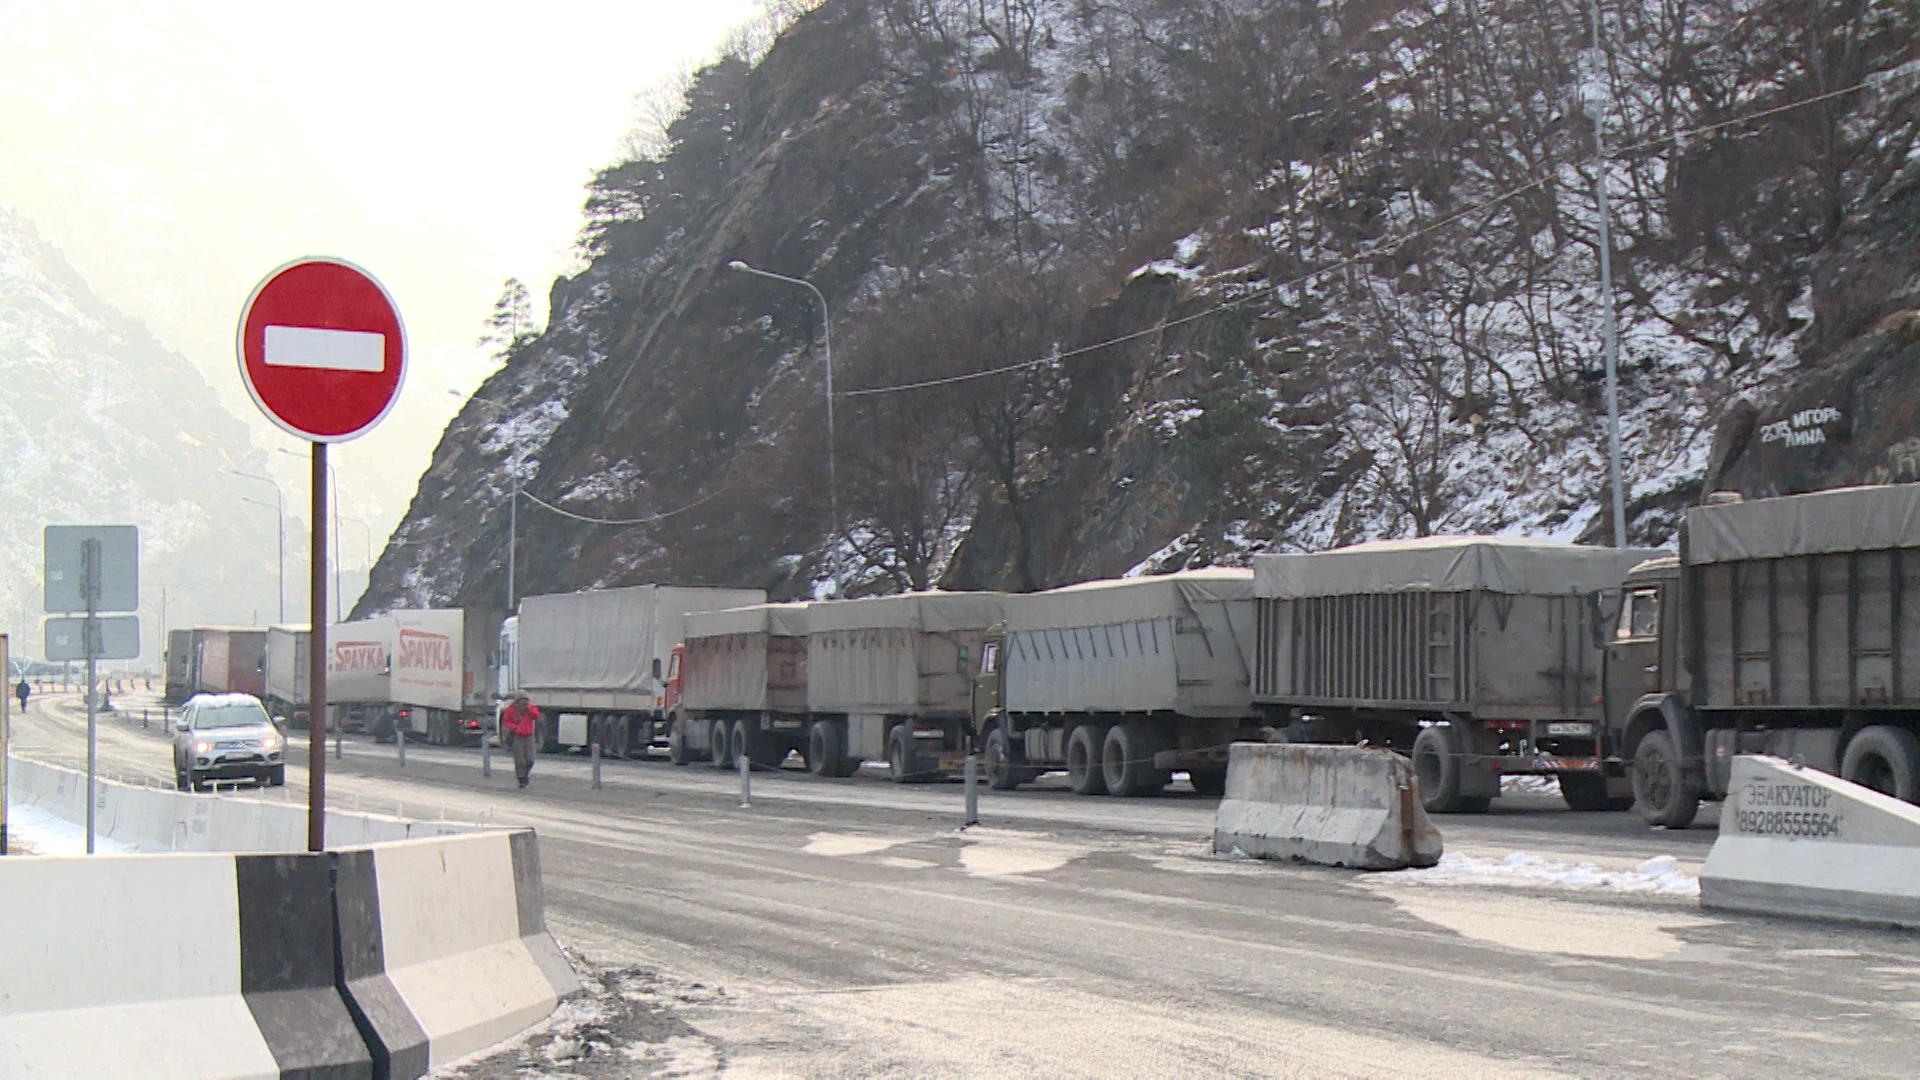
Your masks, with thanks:
M 336 853 L 346 994 L 376 1061 L 417 1076 L 578 992 L 547 934 L 532 832 Z

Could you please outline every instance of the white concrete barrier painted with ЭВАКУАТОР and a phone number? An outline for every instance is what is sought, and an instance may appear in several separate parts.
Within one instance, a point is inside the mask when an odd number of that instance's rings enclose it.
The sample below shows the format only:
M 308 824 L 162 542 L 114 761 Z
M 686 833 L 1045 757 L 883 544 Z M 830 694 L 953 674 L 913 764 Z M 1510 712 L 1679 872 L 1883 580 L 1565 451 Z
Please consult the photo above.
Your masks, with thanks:
M 1778 757 L 1736 757 L 1699 905 L 1920 926 L 1920 807 Z

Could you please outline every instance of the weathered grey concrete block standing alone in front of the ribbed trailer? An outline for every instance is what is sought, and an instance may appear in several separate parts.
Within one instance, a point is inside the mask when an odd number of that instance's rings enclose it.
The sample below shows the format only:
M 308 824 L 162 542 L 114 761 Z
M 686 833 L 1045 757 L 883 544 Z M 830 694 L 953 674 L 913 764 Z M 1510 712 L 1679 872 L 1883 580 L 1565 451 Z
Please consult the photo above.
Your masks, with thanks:
M 1398 871 L 1438 863 L 1440 830 L 1413 765 L 1390 749 L 1236 742 L 1213 851 Z

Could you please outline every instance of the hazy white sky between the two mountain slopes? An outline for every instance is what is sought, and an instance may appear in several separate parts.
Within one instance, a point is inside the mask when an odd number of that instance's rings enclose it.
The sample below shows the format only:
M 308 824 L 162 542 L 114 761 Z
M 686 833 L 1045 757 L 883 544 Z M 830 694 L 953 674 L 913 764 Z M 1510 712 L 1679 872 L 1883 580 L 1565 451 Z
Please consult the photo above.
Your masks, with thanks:
M 409 382 L 334 454 L 342 502 L 397 521 L 492 369 L 501 281 L 543 317 L 582 184 L 630 98 L 712 54 L 755 0 L 0 0 L 0 204 L 94 290 L 192 357 L 255 446 L 296 448 L 236 375 L 234 321 L 269 269 L 332 254 L 401 307 Z M 288 500 L 305 467 L 273 454 Z M 359 544 L 348 544 L 348 563 Z

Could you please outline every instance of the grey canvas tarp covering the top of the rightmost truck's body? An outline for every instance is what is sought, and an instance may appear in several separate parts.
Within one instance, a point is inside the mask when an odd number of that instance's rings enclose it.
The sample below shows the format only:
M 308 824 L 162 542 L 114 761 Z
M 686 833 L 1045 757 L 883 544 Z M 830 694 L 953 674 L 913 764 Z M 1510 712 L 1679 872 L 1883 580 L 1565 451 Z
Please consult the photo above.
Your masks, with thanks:
M 1690 563 L 1920 548 L 1920 484 L 1695 505 L 1686 530 Z

